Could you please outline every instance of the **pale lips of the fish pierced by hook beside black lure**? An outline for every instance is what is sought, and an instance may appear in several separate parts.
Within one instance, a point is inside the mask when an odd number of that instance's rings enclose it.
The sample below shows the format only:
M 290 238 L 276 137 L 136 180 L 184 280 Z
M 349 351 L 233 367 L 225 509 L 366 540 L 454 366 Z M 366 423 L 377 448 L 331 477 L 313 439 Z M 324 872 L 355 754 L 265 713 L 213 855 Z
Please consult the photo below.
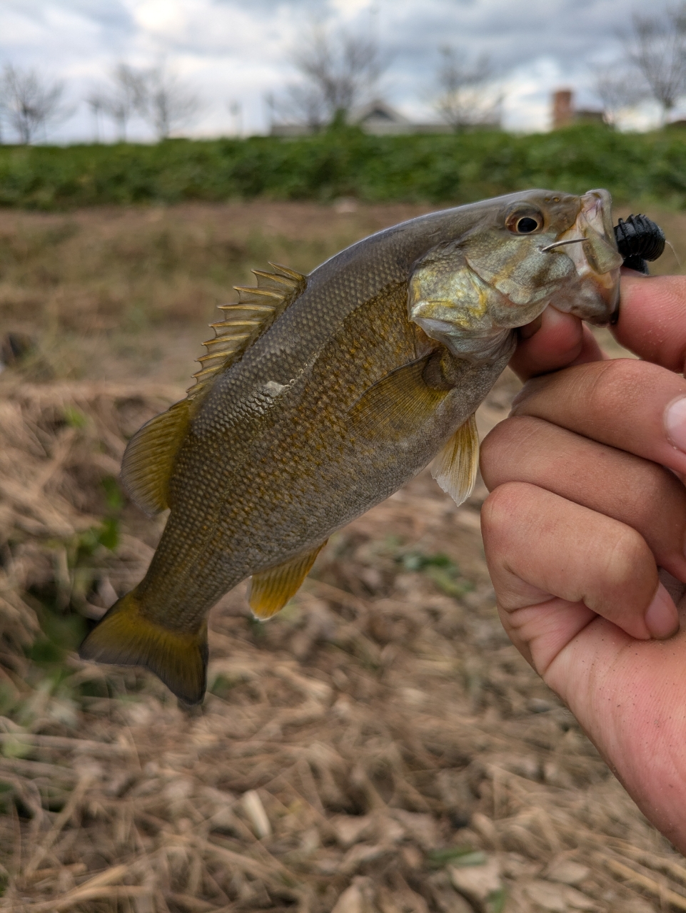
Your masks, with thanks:
M 555 240 L 555 244 L 571 242 L 557 250 L 564 251 L 572 260 L 583 283 L 595 287 L 607 307 L 610 322 L 616 318 L 619 306 L 619 268 L 622 264 L 612 227 L 611 205 L 612 198 L 607 190 L 589 190 L 579 199 L 574 225 Z

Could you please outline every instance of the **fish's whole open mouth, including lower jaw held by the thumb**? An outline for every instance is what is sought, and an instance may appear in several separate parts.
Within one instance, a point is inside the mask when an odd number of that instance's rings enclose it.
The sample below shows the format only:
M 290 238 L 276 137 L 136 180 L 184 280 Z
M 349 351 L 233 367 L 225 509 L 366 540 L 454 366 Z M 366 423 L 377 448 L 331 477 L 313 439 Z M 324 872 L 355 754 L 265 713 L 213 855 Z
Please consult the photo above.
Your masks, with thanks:
M 589 190 L 580 198 L 575 223 L 542 250 L 564 252 L 574 263 L 581 292 L 570 310 L 584 320 L 613 322 L 619 306 L 621 254 L 612 227 L 612 198 L 607 190 Z M 555 304 L 556 302 L 551 302 Z

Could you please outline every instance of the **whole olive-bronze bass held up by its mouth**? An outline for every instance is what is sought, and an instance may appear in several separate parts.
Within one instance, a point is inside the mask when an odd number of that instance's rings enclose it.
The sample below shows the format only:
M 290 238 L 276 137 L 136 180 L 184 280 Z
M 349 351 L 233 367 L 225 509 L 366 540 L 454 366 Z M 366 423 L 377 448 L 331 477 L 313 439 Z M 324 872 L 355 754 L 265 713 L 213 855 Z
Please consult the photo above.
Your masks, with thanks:
M 279 612 L 335 530 L 432 460 L 467 498 L 474 413 L 517 328 L 548 305 L 606 324 L 621 263 L 606 190 L 530 190 L 410 219 L 308 276 L 254 270 L 186 398 L 126 447 L 132 500 L 170 512 L 142 581 L 79 655 L 144 666 L 199 703 L 212 606 L 250 577 L 253 613 Z

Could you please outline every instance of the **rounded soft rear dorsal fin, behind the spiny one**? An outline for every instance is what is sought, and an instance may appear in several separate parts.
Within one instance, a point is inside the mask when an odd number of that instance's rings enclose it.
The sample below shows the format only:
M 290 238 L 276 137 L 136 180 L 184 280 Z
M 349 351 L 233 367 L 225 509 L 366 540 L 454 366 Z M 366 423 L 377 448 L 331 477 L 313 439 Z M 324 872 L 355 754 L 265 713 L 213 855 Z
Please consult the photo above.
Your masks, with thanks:
M 169 478 L 174 457 L 188 433 L 191 410 L 188 400 L 175 403 L 156 415 L 129 441 L 121 460 L 121 481 L 136 504 L 147 514 L 169 507 Z

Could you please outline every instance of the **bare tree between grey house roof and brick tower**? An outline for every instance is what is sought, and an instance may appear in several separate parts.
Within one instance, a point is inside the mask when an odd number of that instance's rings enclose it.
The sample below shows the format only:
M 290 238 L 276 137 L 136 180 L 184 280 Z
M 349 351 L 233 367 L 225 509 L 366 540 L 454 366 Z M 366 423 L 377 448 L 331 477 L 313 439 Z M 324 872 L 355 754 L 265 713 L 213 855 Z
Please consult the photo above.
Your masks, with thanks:
M 499 125 L 502 93 L 495 86 L 489 58 L 461 58 L 454 47 L 441 47 L 437 72 L 436 110 L 453 130 L 478 125 Z

